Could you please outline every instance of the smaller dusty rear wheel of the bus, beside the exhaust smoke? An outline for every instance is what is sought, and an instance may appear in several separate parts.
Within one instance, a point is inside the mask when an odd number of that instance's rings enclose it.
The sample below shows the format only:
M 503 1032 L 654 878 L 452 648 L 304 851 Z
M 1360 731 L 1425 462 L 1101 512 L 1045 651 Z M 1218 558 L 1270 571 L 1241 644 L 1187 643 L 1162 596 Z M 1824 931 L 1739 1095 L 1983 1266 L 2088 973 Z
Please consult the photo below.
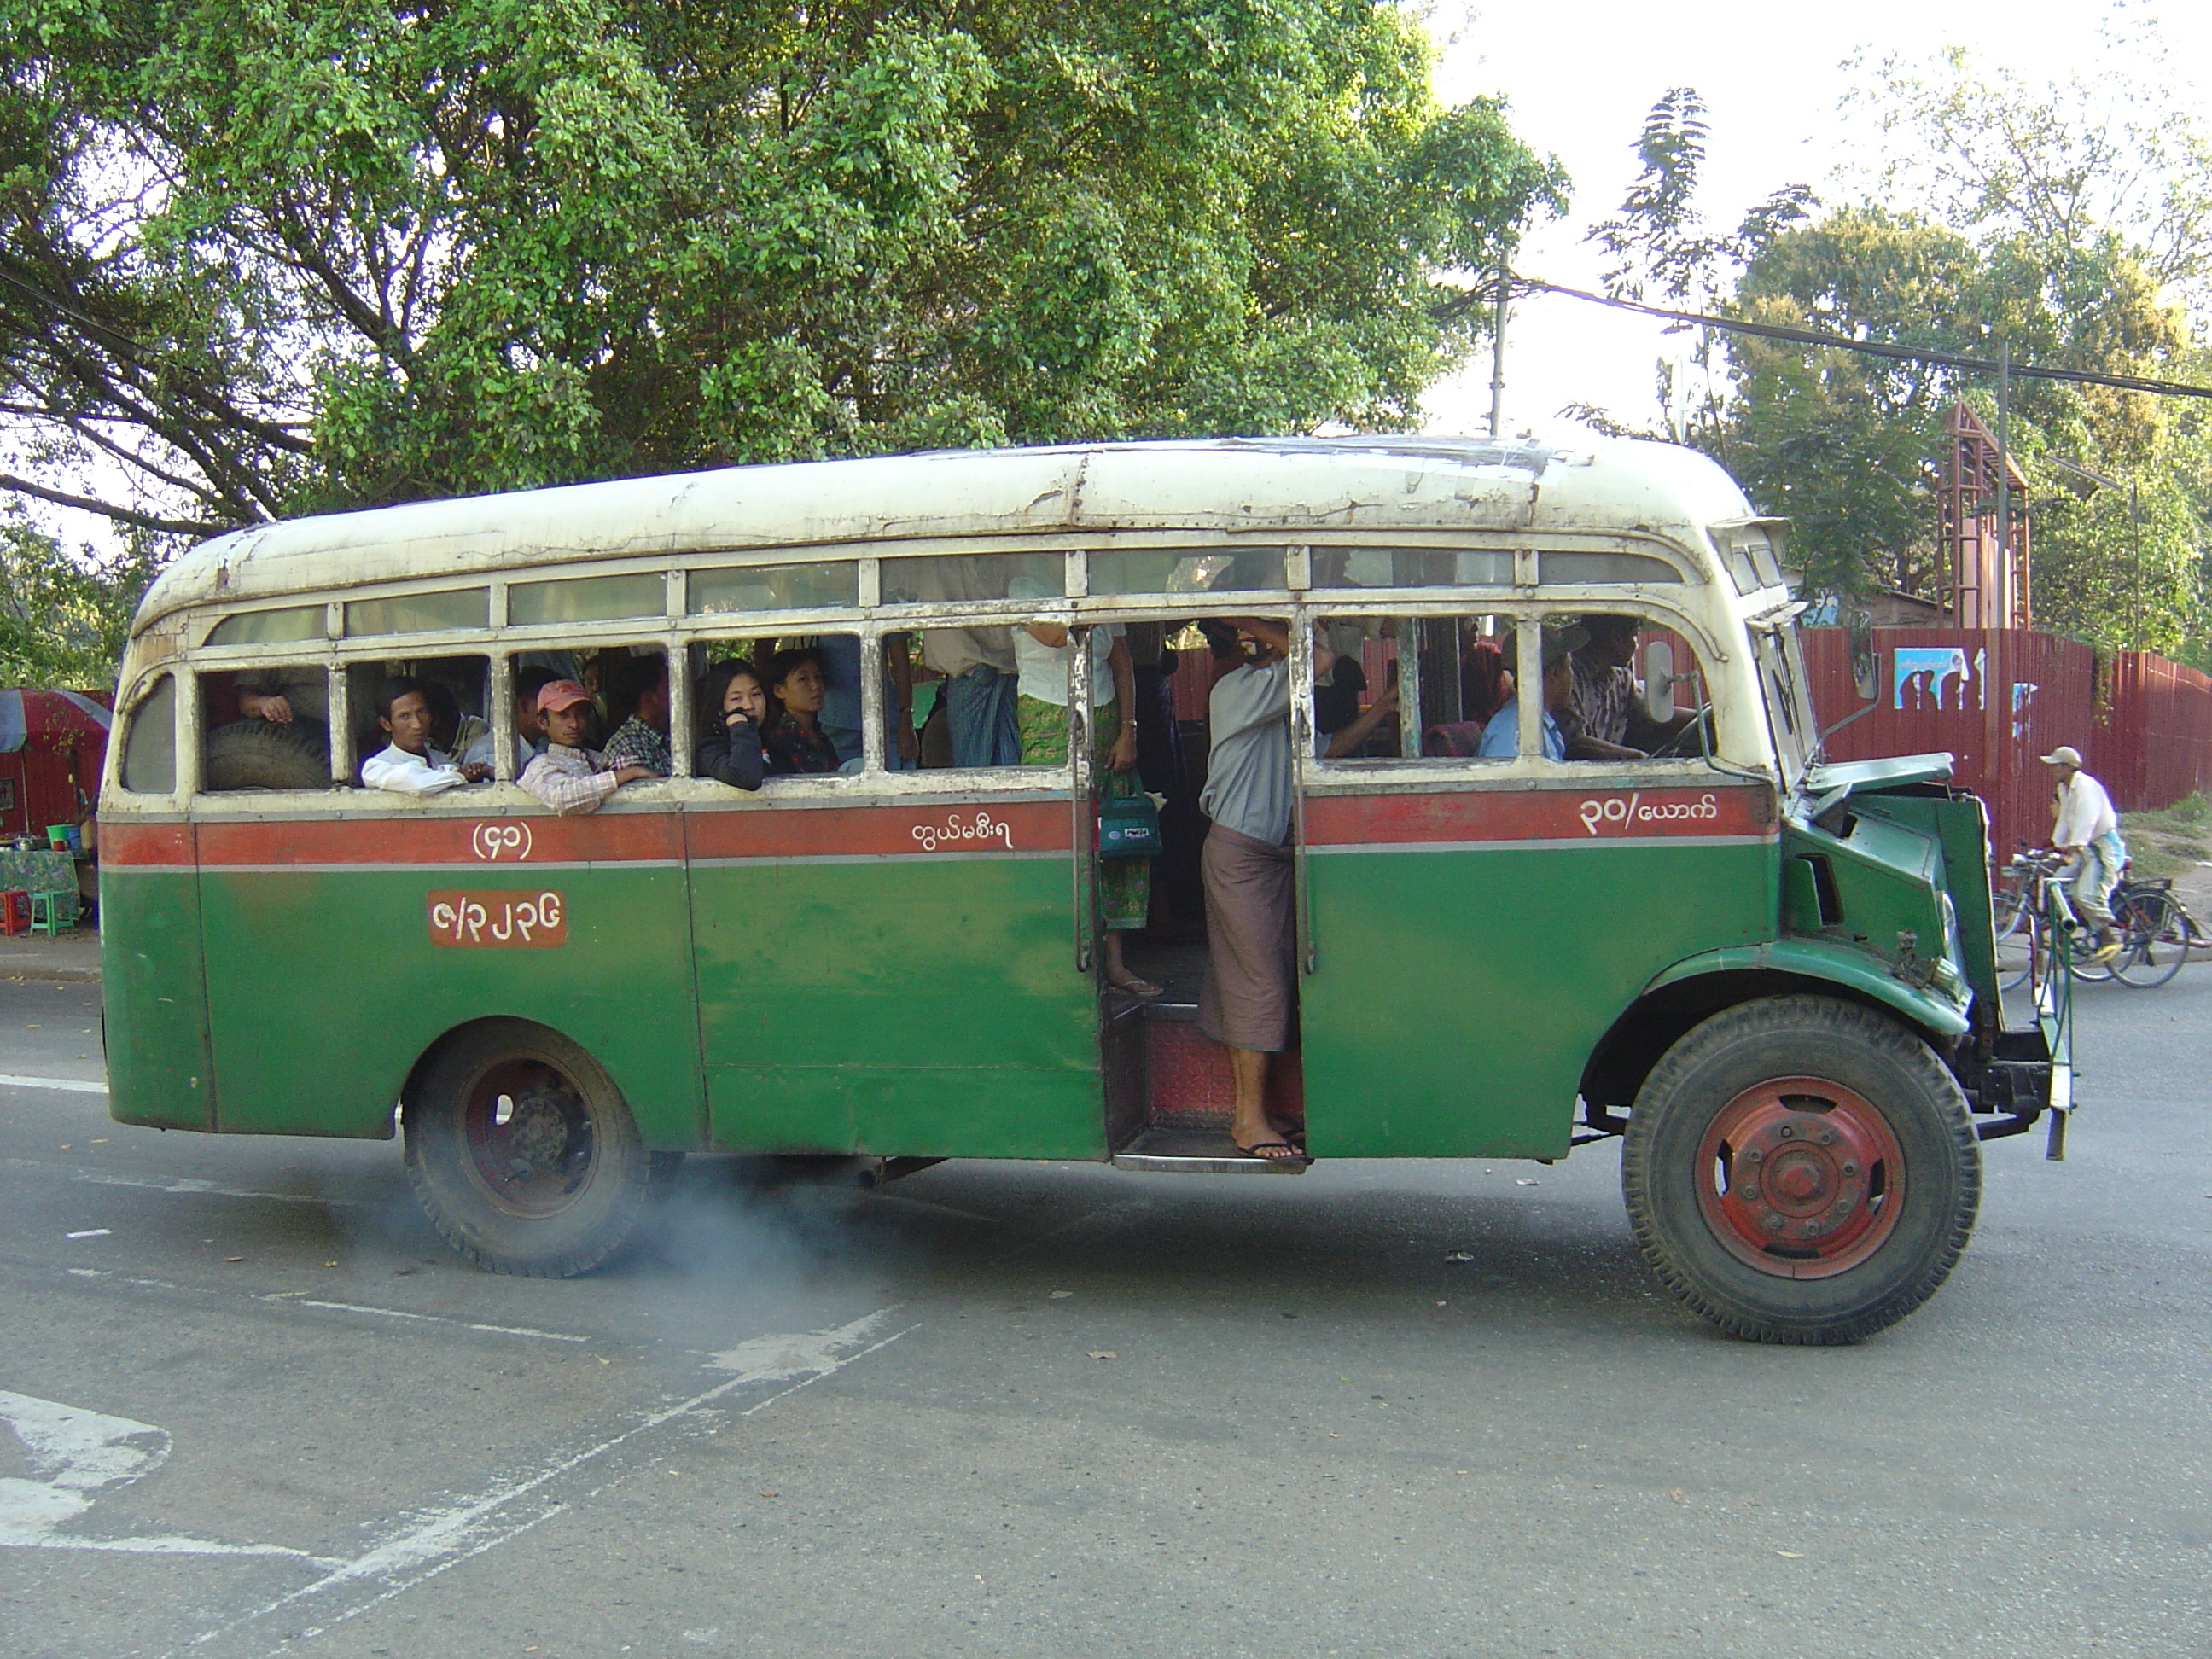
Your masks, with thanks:
M 571 1279 L 637 1230 L 655 1159 L 584 1048 L 489 1020 L 438 1051 L 403 1106 L 407 1179 L 478 1267 Z

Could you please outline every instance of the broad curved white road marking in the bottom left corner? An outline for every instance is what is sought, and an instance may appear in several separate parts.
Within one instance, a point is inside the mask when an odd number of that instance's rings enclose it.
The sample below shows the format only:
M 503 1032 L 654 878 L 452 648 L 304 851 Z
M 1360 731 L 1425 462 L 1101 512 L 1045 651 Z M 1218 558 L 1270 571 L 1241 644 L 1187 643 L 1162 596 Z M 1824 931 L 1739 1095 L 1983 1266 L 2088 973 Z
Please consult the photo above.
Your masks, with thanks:
M 0 1422 L 13 1431 L 38 1480 L 0 1480 L 0 1546 L 113 1551 L 119 1555 L 285 1555 L 307 1566 L 332 1562 L 268 1544 L 217 1544 L 206 1537 L 80 1537 L 62 1528 L 93 1502 L 168 1462 L 168 1433 L 150 1422 L 0 1391 Z

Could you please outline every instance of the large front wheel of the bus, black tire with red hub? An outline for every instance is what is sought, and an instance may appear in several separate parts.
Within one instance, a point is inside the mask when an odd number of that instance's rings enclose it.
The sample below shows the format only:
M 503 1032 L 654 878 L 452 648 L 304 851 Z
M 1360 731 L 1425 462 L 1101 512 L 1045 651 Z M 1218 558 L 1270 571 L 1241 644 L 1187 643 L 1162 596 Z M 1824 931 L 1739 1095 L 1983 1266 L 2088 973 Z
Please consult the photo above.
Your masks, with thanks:
M 1743 1148 L 1723 1144 L 1710 1159 L 1719 1126 L 1754 1121 L 1767 1128 L 1745 1128 Z M 1880 1157 L 1836 1161 L 1827 1124 L 1843 1126 L 1845 1152 L 1878 1130 Z M 1754 1141 L 1772 1150 L 1763 1168 L 1750 1168 Z M 1820 1159 L 1825 1177 L 1814 1172 Z M 1891 1159 L 1902 1168 L 1889 1170 Z M 1785 1179 L 1834 1179 L 1816 1188 L 1834 1206 L 1803 1212 L 1796 1245 L 1790 1217 L 1778 1234 L 1756 1237 L 1717 1219 L 1805 1199 L 1776 1194 Z M 1982 1155 L 1958 1079 L 1916 1033 L 1854 1002 L 1790 995 L 1723 1009 L 1666 1051 L 1637 1091 L 1621 1192 L 1652 1272 L 1721 1329 L 1759 1343 L 1858 1343 L 1949 1276 L 1973 1232 Z M 1818 1228 L 1825 1239 L 1812 1239 Z

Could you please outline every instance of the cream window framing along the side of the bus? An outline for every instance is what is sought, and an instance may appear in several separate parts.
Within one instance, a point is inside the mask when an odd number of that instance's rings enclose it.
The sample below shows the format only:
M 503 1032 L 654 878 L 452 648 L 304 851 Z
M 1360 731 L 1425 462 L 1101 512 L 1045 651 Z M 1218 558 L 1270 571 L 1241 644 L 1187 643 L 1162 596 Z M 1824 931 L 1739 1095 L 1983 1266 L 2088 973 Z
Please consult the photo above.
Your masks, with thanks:
M 1298 586 L 1267 588 L 1267 591 L 1234 591 L 1234 593 L 1192 593 L 1192 595 L 1144 595 L 1144 593 L 1119 593 L 1119 595 L 1097 595 L 1088 593 L 1088 555 L 1093 551 L 1130 551 L 1130 549 L 1219 549 L 1223 553 L 1234 553 L 1241 549 L 1252 549 L 1256 544 L 1281 546 L 1285 582 Z M 1471 613 L 1511 617 L 1515 624 L 1542 619 L 1546 615 L 1559 613 L 1588 613 L 1588 611 L 1632 611 L 1635 615 L 1666 626 L 1679 633 L 1699 653 L 1701 666 L 1705 666 L 1708 690 L 1725 690 L 1721 677 L 1712 672 L 1714 666 L 1728 659 L 1728 650 L 1712 637 L 1701 611 L 1712 608 L 1712 593 L 1725 593 L 1725 584 L 1717 582 L 1717 573 L 1699 568 L 1692 553 L 1674 546 L 1674 542 L 1657 535 L 1624 535 L 1617 531 L 1606 533 L 1577 533 L 1577 531 L 1546 531 L 1546 533 L 1502 533 L 1502 535 L 1469 535 L 1467 531 L 1285 531 L 1283 526 L 1270 526 L 1267 533 L 1259 531 L 1237 531 L 1237 529 L 1197 529 L 1197 526 L 1172 526 L 1172 529 L 1135 529 L 1135 531 L 1051 531 L 1051 533 L 1024 533 L 1009 531 L 1002 535 L 947 535 L 947 538 L 914 538 L 896 542 L 894 553 L 885 553 L 885 542 L 841 542 L 827 546 L 750 546 L 750 549 L 697 549 L 677 555 L 659 557 L 637 557 L 637 555 L 606 555 L 588 560 L 549 560 L 533 566 L 509 566 L 495 573 L 487 573 L 484 582 L 489 586 L 489 624 L 484 628 L 458 628 L 458 630 L 425 630 L 414 635 L 361 635 L 345 637 L 343 630 L 343 606 L 352 599 L 363 597 L 398 597 L 411 591 L 442 591 L 449 588 L 451 575 L 440 580 L 416 580 L 416 582 L 394 582 L 394 584 L 358 584 L 358 588 L 347 588 L 343 593 L 325 593 L 321 602 L 327 606 L 327 628 L 321 641 L 321 653 L 303 653 L 301 646 L 307 641 L 279 641 L 279 644 L 254 644 L 254 646 L 226 646 L 221 650 L 208 650 L 204 644 L 181 653 L 184 661 L 170 664 L 179 675 L 188 675 L 195 681 L 195 695 L 186 699 L 186 710 L 197 726 L 197 677 L 210 672 L 239 672 L 259 668 L 272 661 L 323 661 L 325 670 L 332 675 L 334 699 L 343 697 L 345 668 L 361 659 L 385 659 L 392 655 L 396 639 L 405 639 L 409 655 L 438 657 L 438 655 L 484 655 L 491 659 L 491 726 L 495 734 L 493 752 L 493 774 L 498 785 L 515 783 L 509 776 L 513 765 L 513 659 L 529 650 L 573 650 L 580 637 L 588 637 L 591 648 L 619 648 L 648 644 L 664 653 L 670 664 L 670 732 L 684 732 L 686 741 L 670 743 L 670 776 L 655 779 L 650 783 L 633 785 L 641 794 L 608 803 L 611 810 L 633 807 L 633 810 L 659 810 L 675 807 L 684 803 L 721 803 L 730 805 L 730 792 L 712 783 L 699 783 L 692 779 L 692 741 L 695 710 L 692 710 L 692 686 L 688 672 L 675 672 L 679 666 L 688 666 L 690 648 L 695 644 L 723 644 L 732 639 L 759 639 L 759 637 L 818 637 L 832 633 L 849 633 L 860 639 L 863 657 L 863 759 L 856 772 L 838 772 L 805 779 L 770 779 L 759 796 L 748 799 L 743 805 L 770 807 L 779 801 L 838 801 L 854 803 L 856 799 L 883 799 L 898 801 L 909 796 L 945 799 L 945 796 L 1006 796 L 1006 794 L 1062 794 L 1082 787 L 1075 759 L 1057 768 L 933 768 L 933 770 L 896 770 L 891 765 L 891 734 L 889 734 L 889 708 L 883 695 L 883 653 L 885 639 L 891 635 L 916 635 L 927 626 L 1022 626 L 1026 622 L 1060 622 L 1068 628 L 1088 628 L 1106 622 L 1188 622 L 1192 617 L 1232 617 L 1232 615 L 1267 615 L 1279 622 L 1292 624 L 1294 635 L 1301 635 L 1298 650 L 1294 655 L 1310 657 L 1303 633 L 1321 617 L 1464 617 Z M 1433 549 L 1433 551 L 1484 551 L 1484 553 L 1513 553 L 1513 584 L 1467 584 L 1467 586 L 1422 586 L 1422 588 L 1310 588 L 1303 586 L 1312 575 L 1312 553 L 1334 551 L 1334 549 Z M 1646 557 L 1661 557 L 1679 575 L 1679 584 L 1577 584 L 1544 588 L 1535 582 L 1537 560 L 1546 551 L 1624 551 L 1639 553 Z M 1060 553 L 1064 557 L 1064 595 L 1044 602 L 1013 602 L 1013 599 L 962 599 L 962 602 L 918 602 L 918 604 L 883 604 L 883 562 L 885 557 L 947 557 L 947 555 L 1040 555 Z M 794 608 L 794 611 L 759 611 L 759 613 L 701 613 L 686 615 L 686 593 L 690 573 L 695 568 L 730 568 L 743 564 L 845 564 L 852 562 L 858 571 L 858 604 L 856 606 L 834 606 L 834 608 Z M 509 584 L 511 582 L 542 582 L 542 580 L 582 580 L 591 575 L 637 575 L 644 568 L 659 571 L 666 582 L 666 606 L 659 617 L 624 617 L 624 619 L 593 619 L 575 624 L 533 624 L 533 626 L 511 626 L 509 615 Z M 555 575 L 557 573 L 557 575 Z M 1734 595 L 1728 595 L 1734 597 Z M 274 595 L 257 595 L 252 606 L 243 608 L 268 608 Z M 294 595 L 301 602 L 301 595 Z M 1730 606 L 1730 622 L 1739 628 L 1747 626 L 1734 606 Z M 190 626 L 188 637 L 206 639 L 219 622 L 232 615 L 219 606 L 201 608 Z M 1520 661 L 1515 664 L 1517 684 L 1542 684 L 1535 630 L 1517 626 L 1520 635 Z M 1400 670 L 1405 672 L 1405 670 Z M 1301 732 L 1312 732 L 1312 675 L 1301 675 L 1294 688 L 1294 710 Z M 343 706 L 334 701 L 334 708 Z M 1761 710 L 1763 712 L 1763 710 Z M 1436 759 L 1418 754 L 1418 730 L 1411 737 L 1405 734 L 1407 726 L 1418 726 L 1418 712 L 1405 717 L 1402 748 L 1409 754 L 1400 759 L 1338 759 L 1325 761 L 1312 754 L 1312 743 L 1301 741 L 1296 748 L 1296 776 L 1301 787 L 1314 790 L 1338 790 L 1338 787 L 1467 787 L 1475 781 L 1498 781 L 1498 783 L 1528 783 L 1533 779 L 1564 779 L 1579 776 L 1577 768 L 1588 768 L 1588 761 L 1564 763 L 1548 761 L 1542 754 L 1542 710 L 1540 699 L 1522 699 L 1522 754 L 1509 761 L 1486 761 L 1480 770 L 1469 768 L 1464 759 Z M 1725 699 L 1719 701 L 1719 721 L 1741 719 L 1741 710 L 1734 710 Z M 1776 754 L 1774 737 L 1765 730 L 1765 719 L 1759 721 L 1754 748 L 1767 757 L 1781 759 Z M 179 730 L 179 799 L 195 803 L 237 803 L 250 799 L 257 810 L 274 810 L 279 803 L 272 799 L 288 792 L 252 792 L 252 796 L 208 796 L 199 790 L 199 732 L 186 734 Z M 1750 737 L 1750 732 L 1745 732 Z M 1717 743 L 1717 752 L 1725 750 L 1725 743 Z M 341 752 L 343 750 L 343 752 Z M 345 792 L 349 787 L 352 763 L 358 759 L 352 752 L 352 726 L 341 721 L 332 732 L 332 790 Z M 190 768 L 192 787 L 186 790 L 186 768 Z M 341 772 L 341 768 L 345 768 Z M 1652 772 L 1655 776 L 1672 774 L 1699 774 L 1710 776 L 1712 770 L 1730 770 L 1717 757 L 1701 759 L 1674 759 L 1674 761 L 1648 761 L 1637 763 L 1635 770 Z M 307 792 L 292 792 L 307 794 Z M 358 794 L 358 792 L 356 792 Z M 314 792 L 314 801 L 327 810 L 323 792 Z M 299 803 L 305 810 L 305 801 Z M 436 807 L 438 801 L 425 803 L 425 807 Z M 482 812 L 487 807 L 511 807 L 520 805 L 518 796 L 502 794 L 495 799 L 469 799 L 447 803 L 451 810 Z

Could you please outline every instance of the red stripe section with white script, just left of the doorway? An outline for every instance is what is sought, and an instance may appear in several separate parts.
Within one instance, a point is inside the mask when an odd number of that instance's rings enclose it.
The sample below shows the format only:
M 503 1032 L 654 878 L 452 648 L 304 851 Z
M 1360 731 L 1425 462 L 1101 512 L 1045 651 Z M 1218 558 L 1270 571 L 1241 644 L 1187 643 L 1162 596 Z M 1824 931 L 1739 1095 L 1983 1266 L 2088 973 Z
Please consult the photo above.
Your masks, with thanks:
M 1066 801 L 684 814 L 684 832 L 692 858 L 887 858 L 916 852 L 1066 852 L 1071 830 Z

